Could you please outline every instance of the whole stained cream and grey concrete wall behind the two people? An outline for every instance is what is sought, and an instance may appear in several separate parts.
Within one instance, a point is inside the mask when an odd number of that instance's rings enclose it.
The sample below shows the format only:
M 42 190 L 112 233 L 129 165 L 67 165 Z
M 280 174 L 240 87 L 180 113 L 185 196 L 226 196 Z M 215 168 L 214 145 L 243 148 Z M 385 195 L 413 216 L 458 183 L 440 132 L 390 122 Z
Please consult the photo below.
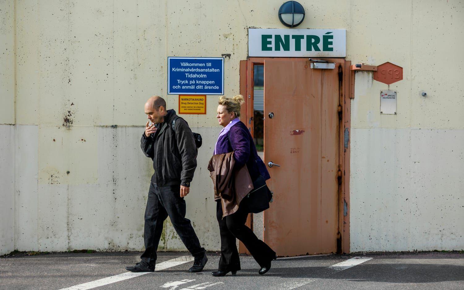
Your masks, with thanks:
M 15 52 L 0 54 L 0 185 L 9 202 L 1 206 L 11 208 L 1 208 L 1 225 L 2 232 L 15 232 L 13 238 L 2 235 L 2 253 L 141 250 L 153 171 L 139 148 L 143 104 L 153 94 L 166 96 L 167 57 L 230 53 L 225 94 L 233 96 L 239 61 L 247 57 L 247 28 L 284 28 L 277 18 L 282 3 L 2 1 L 1 41 Z M 458 226 L 464 216 L 458 178 L 464 151 L 463 4 L 300 3 L 307 14 L 298 28 L 347 29 L 348 60 L 404 68 L 404 79 L 390 85 L 398 90 L 396 116 L 380 116 L 379 91 L 387 85 L 372 81 L 370 73 L 356 74 L 351 250 L 464 248 Z M 429 97 L 420 97 L 421 90 Z M 219 249 L 206 170 L 220 129 L 217 98 L 207 97 L 206 116 L 185 115 L 204 137 L 187 216 L 208 250 Z M 177 108 L 177 96 L 167 101 Z M 169 222 L 160 248 L 184 249 Z

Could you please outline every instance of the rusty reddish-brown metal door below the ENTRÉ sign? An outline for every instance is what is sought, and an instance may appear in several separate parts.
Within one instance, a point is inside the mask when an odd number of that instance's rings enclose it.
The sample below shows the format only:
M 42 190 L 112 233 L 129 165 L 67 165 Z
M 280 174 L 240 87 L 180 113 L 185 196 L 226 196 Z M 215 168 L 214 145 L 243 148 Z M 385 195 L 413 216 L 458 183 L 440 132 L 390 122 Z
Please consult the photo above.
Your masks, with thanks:
M 339 76 L 308 58 L 264 60 L 264 241 L 278 256 L 337 250 Z M 271 118 L 272 117 L 272 118 Z

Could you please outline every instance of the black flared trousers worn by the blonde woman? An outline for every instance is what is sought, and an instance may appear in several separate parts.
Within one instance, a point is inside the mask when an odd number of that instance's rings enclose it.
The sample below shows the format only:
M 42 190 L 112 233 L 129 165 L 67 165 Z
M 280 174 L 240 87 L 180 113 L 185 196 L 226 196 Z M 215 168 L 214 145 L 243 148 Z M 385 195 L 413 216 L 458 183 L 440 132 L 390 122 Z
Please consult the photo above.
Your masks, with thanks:
M 219 271 L 240 270 L 240 258 L 238 257 L 235 238 L 238 238 L 245 245 L 260 266 L 264 266 L 276 256 L 275 251 L 262 240 L 258 239 L 248 226 L 245 226 L 248 212 L 244 208 L 238 207 L 237 212 L 227 215 L 223 219 L 221 202 L 220 200 L 217 201 L 216 217 L 219 222 L 219 232 L 221 235 Z

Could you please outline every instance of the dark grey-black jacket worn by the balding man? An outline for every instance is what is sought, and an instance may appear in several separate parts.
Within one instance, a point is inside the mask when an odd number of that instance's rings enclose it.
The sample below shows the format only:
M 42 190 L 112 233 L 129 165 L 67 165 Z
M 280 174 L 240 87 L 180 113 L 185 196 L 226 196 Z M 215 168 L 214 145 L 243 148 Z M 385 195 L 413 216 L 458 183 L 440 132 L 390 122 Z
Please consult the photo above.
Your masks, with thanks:
M 174 117 L 177 119 L 173 130 Z M 179 184 L 190 187 L 197 167 L 197 150 L 192 130 L 174 110 L 168 110 L 164 122 L 155 126 L 158 128 L 156 133 L 145 137 L 143 132 L 140 141 L 143 153 L 153 159 L 155 174 L 151 181 L 159 187 Z

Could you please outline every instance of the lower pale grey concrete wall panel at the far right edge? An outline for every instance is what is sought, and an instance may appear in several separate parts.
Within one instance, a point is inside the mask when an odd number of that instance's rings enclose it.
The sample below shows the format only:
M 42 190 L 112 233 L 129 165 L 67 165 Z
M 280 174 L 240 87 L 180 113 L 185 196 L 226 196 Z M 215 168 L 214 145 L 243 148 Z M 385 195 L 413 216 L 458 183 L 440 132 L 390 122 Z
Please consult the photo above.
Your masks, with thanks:
M 411 148 L 411 236 L 423 250 L 464 249 L 464 130 L 413 129 Z

